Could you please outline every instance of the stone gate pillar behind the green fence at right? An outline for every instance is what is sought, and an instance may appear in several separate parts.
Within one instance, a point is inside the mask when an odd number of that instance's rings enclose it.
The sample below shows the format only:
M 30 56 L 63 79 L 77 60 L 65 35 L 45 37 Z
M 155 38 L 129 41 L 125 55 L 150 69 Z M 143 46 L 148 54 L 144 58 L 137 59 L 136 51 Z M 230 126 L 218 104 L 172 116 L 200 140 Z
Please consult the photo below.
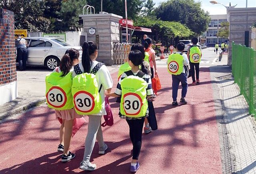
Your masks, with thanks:
M 230 23 L 230 45 L 228 53 L 228 65 L 232 64 L 232 42 L 244 45 L 245 31 L 249 31 L 249 47 L 251 46 L 251 29 L 256 22 L 256 8 L 229 8 L 227 10 Z

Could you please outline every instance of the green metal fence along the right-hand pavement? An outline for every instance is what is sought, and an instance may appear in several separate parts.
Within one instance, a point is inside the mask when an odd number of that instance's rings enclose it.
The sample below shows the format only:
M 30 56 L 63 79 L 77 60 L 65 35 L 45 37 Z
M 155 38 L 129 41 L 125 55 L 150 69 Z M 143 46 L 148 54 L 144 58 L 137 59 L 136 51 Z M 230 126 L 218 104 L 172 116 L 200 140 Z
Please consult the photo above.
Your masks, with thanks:
M 249 113 L 256 116 L 256 51 L 232 42 L 232 74 L 249 104 Z

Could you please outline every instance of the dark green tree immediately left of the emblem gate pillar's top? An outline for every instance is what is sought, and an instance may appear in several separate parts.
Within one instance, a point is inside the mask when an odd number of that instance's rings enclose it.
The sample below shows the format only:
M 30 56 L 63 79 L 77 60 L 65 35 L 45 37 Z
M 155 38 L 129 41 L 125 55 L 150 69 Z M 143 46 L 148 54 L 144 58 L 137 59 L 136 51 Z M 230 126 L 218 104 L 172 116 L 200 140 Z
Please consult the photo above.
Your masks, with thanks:
M 83 7 L 86 5 L 86 0 L 66 0 L 62 1 L 61 9 L 57 12 L 62 20 L 65 30 L 70 28 L 82 27 L 83 21 L 79 20 L 79 14 L 83 13 Z

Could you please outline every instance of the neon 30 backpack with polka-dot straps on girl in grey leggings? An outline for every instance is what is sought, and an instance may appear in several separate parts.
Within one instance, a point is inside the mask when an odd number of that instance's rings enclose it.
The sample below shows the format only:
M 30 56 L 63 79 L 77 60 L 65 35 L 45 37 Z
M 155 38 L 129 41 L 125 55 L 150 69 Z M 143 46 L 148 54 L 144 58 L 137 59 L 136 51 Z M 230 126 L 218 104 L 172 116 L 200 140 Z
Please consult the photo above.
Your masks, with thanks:
M 102 108 L 100 90 L 96 73 L 104 63 L 97 63 L 90 73 L 82 73 L 79 64 L 74 66 L 76 76 L 73 78 L 72 95 L 74 109 L 79 115 L 94 115 Z

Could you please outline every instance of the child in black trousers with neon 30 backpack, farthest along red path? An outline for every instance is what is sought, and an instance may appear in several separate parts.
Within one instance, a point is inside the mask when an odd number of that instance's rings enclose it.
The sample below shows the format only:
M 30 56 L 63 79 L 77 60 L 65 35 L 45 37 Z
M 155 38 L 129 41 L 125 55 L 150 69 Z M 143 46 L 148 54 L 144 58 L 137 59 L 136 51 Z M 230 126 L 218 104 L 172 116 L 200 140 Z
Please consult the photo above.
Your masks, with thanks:
M 192 43 L 190 47 L 188 47 L 187 57 L 189 59 L 189 65 L 191 70 L 192 77 L 192 85 L 200 84 L 199 81 L 199 63 L 202 57 L 202 50 L 197 45 L 198 38 L 192 38 Z M 196 71 L 196 79 L 195 79 L 195 71 Z

